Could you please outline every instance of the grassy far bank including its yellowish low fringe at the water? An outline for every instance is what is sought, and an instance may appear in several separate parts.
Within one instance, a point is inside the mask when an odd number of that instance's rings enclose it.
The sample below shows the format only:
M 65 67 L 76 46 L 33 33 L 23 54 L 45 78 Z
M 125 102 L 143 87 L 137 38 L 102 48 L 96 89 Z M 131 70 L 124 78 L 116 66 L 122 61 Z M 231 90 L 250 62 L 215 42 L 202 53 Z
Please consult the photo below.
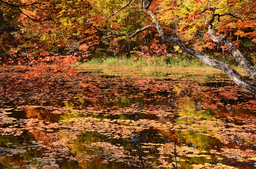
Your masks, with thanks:
M 81 64 L 77 62 L 76 64 Z M 228 62 L 228 64 L 231 64 Z M 237 66 L 233 65 L 240 74 L 246 75 L 245 71 Z M 197 74 L 212 74 L 212 73 L 223 73 L 221 70 L 213 68 L 205 63 L 197 60 L 194 57 L 187 56 L 168 56 L 165 58 L 155 57 L 153 61 L 147 61 L 139 58 L 136 61 L 132 61 L 131 58 L 125 56 L 119 57 L 107 57 L 100 58 L 95 57 L 90 61 L 82 63 L 78 69 L 81 70 L 92 70 L 92 69 L 102 69 L 110 74 L 122 71 L 140 71 L 140 72 L 150 72 L 150 71 L 164 71 L 164 72 L 190 72 Z M 105 72 L 104 71 L 104 72 Z M 114 74 L 115 74 L 114 73 Z

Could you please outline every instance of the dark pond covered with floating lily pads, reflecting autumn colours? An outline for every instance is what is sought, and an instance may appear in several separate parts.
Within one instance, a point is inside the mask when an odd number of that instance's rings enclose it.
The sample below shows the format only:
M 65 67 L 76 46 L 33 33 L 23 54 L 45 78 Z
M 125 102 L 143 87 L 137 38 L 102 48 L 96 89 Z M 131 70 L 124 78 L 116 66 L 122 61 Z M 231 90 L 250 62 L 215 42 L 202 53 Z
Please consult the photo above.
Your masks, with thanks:
M 255 95 L 221 73 L 83 70 L 0 114 L 0 168 L 255 168 Z

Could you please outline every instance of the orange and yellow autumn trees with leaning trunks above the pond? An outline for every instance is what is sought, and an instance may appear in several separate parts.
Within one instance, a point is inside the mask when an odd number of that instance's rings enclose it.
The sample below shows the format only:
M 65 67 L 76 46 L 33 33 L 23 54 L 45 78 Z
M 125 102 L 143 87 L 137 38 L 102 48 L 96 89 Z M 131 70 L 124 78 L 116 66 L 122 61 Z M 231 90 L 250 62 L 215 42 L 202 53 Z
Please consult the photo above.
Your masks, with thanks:
M 0 3 L 0 54 L 4 64 L 27 64 L 33 66 L 30 69 L 43 72 L 68 72 L 70 63 L 85 61 L 99 48 L 126 54 L 144 41 L 148 44 L 165 41 L 222 70 L 236 84 L 256 93 L 256 69 L 239 48 L 245 40 L 256 42 L 256 1 L 0 0 Z M 251 80 L 204 52 L 205 48 L 211 50 L 220 44 Z M 59 65 L 53 70 L 46 65 L 49 61 Z M 37 74 L 26 77 L 39 78 Z M 46 77 L 41 75 L 40 79 Z

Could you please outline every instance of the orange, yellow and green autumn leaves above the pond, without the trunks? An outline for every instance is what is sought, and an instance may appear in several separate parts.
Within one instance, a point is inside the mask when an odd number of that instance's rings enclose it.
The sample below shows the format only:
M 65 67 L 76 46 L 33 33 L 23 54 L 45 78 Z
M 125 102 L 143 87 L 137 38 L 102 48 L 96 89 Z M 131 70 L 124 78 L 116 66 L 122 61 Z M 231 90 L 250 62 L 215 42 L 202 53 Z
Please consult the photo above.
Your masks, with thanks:
M 145 1 L 146 3 L 147 1 Z M 152 48 L 152 39 L 160 40 L 157 32 L 149 28 L 136 38 L 127 40 L 123 36 L 131 35 L 146 24 L 151 17 L 143 13 L 141 1 L 2 1 L 0 42 L 2 62 L 14 63 L 16 56 L 24 59 L 50 55 L 79 54 L 86 58 L 96 48 L 108 48 L 119 54 L 130 53 L 133 48 Z M 203 51 L 205 47 L 216 49 L 217 44 L 207 37 L 210 11 L 200 13 L 206 8 L 216 8 L 220 21 L 214 22 L 217 35 L 236 41 L 237 46 L 243 40 L 256 40 L 255 2 L 254 1 L 190 1 L 154 0 L 150 6 L 163 29 L 168 34 L 180 36 L 187 45 Z M 50 11 L 50 12 L 49 12 Z M 242 18 L 240 17 L 242 16 Z M 110 37 L 108 37 L 110 36 Z M 108 37 L 108 38 L 106 38 Z M 116 40 L 111 40 L 116 38 Z M 103 40 L 104 41 L 103 41 Z M 163 42 L 158 43 L 161 45 Z M 202 46 L 202 48 L 200 48 Z M 227 50 L 222 47 L 223 50 Z M 169 51 L 170 52 L 170 51 Z M 142 52 L 143 53 L 143 52 Z M 145 54 L 147 55 L 147 54 Z M 150 54 L 152 55 L 152 54 Z M 15 63 L 29 61 L 16 61 Z

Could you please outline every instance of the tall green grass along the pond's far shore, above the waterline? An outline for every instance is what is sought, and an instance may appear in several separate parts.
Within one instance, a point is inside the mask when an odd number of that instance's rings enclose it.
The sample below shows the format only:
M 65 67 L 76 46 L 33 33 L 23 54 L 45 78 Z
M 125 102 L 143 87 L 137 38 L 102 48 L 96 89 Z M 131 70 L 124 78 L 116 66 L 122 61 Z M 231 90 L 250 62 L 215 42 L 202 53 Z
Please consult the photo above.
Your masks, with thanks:
M 230 64 L 236 70 L 241 68 L 233 62 L 226 61 L 227 64 Z M 76 64 L 81 64 L 77 62 Z M 133 61 L 131 58 L 125 56 L 119 57 L 107 57 L 100 58 L 95 57 L 90 61 L 86 61 L 80 65 L 80 67 L 87 68 L 122 68 L 122 69 L 131 69 L 131 68 L 142 68 L 142 69 L 215 69 L 204 62 L 191 57 L 179 55 L 177 57 L 167 56 L 167 57 L 155 57 L 154 60 L 148 61 L 138 58 L 136 61 Z

